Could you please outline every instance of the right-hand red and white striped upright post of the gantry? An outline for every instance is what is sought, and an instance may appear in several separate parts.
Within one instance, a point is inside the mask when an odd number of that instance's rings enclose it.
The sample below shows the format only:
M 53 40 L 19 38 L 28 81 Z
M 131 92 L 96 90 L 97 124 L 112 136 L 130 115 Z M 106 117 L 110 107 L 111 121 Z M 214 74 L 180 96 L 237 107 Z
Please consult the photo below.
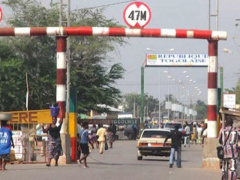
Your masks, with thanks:
M 208 41 L 208 138 L 216 138 L 217 132 L 217 102 L 218 102 L 218 41 Z

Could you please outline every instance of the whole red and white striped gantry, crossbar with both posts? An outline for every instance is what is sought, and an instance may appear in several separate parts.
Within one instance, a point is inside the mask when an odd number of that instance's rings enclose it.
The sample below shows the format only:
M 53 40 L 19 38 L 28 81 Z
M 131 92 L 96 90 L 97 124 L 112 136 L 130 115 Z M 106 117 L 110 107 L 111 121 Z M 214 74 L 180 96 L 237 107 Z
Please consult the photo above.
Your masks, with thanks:
M 205 39 L 208 41 L 208 128 L 209 138 L 217 137 L 217 61 L 218 41 L 227 39 L 225 31 L 192 29 L 129 29 L 117 27 L 4 27 L 0 36 L 55 36 L 57 38 L 56 101 L 65 120 L 66 49 L 69 36 L 121 36 L 152 38 Z M 141 106 L 141 109 L 143 107 Z M 143 111 L 142 111 L 143 112 Z M 142 116 L 142 115 L 141 115 Z M 143 119 L 141 118 L 141 122 Z M 70 147 L 69 147 L 70 148 Z M 73 154 L 72 154 L 73 156 Z

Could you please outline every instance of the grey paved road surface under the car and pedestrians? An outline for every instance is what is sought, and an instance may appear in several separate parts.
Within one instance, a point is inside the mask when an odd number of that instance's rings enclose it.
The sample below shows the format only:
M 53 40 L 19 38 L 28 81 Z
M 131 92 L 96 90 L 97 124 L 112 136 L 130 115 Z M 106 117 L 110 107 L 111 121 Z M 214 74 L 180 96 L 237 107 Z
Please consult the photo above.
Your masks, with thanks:
M 183 148 L 182 166 L 168 167 L 167 157 L 143 157 L 137 160 L 136 141 L 117 141 L 102 155 L 94 149 L 88 157 L 89 168 L 77 164 L 46 167 L 45 164 L 8 165 L 1 172 L 5 180 L 218 180 L 220 170 L 201 168 L 202 148 Z

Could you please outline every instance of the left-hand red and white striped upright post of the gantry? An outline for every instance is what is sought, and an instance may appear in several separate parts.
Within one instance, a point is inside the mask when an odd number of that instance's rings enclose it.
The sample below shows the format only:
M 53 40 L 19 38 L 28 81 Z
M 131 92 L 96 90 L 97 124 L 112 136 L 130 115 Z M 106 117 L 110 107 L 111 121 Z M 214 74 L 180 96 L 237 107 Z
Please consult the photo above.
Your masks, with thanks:
M 60 107 L 61 114 L 65 118 L 66 101 L 66 37 L 57 37 L 57 83 L 56 101 Z M 64 133 L 67 133 L 67 125 L 63 119 Z M 62 132 L 62 131 L 61 131 Z M 63 133 L 63 132 L 62 132 Z

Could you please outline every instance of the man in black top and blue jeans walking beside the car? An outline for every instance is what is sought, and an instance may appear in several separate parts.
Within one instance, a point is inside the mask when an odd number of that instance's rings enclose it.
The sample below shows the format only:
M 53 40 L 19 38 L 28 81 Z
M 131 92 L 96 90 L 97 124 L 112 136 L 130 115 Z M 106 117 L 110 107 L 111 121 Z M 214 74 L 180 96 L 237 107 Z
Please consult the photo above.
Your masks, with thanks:
M 184 134 L 180 131 L 178 131 L 179 126 L 175 126 L 175 130 L 173 130 L 165 139 L 164 141 L 164 146 L 166 146 L 166 142 L 169 138 L 172 140 L 171 144 L 171 154 L 170 154 L 170 159 L 169 159 L 169 168 L 173 167 L 173 162 L 175 158 L 175 151 L 177 151 L 177 167 L 181 168 L 182 167 L 182 160 L 181 160 L 181 152 L 182 152 L 182 137 L 183 136 L 190 136 L 191 134 Z

